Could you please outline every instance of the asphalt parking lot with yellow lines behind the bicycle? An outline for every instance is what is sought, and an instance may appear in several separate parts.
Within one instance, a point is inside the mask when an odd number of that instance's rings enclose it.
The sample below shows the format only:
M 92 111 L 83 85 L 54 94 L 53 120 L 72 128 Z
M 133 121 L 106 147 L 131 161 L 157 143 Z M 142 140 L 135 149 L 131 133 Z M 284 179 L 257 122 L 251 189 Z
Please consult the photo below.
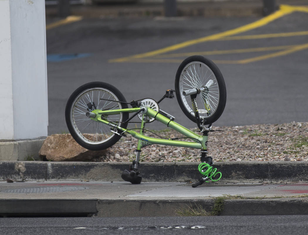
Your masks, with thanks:
M 277 4 L 287 2 L 291 4 Z M 189 3 L 187 9 L 202 8 L 205 3 L 196 4 Z M 249 4 L 257 4 L 259 12 L 262 7 L 262 1 L 253 0 L 214 1 L 205 8 L 215 12 L 212 4 L 240 12 L 246 12 L 241 9 Z M 55 18 L 47 18 L 48 135 L 67 133 L 65 105 L 82 84 L 104 81 L 117 87 L 128 101 L 159 100 L 165 90 L 174 89 L 176 70 L 189 55 L 208 57 L 224 76 L 227 103 L 214 126 L 307 121 L 308 14 L 305 7 L 296 8 L 305 4 L 292 1 L 291 7 L 265 18 L 261 13 L 175 18 L 99 17 L 95 13 L 108 7 L 131 12 L 135 5 L 88 6 L 84 11 L 93 17 L 80 13 L 81 18 L 58 24 L 53 24 Z M 196 128 L 176 99 L 165 99 L 159 107 L 175 116 L 177 123 Z M 155 121 L 146 128 L 166 126 Z

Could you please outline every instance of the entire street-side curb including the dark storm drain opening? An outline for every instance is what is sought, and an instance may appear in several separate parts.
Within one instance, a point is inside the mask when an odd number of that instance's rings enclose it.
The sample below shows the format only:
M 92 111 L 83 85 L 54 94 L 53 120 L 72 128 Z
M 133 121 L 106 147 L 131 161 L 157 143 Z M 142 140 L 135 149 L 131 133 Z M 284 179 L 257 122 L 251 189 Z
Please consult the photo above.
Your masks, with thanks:
M 178 216 L 179 209 L 197 208 L 210 212 L 215 199 L 156 200 L 69 200 L 69 199 L 0 199 L 0 216 L 53 215 L 92 217 Z M 307 215 L 307 198 L 269 198 L 225 200 L 221 216 Z

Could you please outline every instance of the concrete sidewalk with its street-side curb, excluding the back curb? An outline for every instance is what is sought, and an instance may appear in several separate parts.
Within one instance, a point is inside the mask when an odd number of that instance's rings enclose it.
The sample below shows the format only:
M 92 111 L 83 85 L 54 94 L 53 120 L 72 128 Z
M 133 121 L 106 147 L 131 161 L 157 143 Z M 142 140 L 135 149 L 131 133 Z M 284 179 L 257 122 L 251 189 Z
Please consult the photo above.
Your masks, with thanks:
M 303 194 L 307 183 L 0 182 L 0 215 L 177 216 L 177 210 L 198 206 L 211 212 L 219 196 L 219 215 L 298 215 L 308 213 L 308 196 L 296 197 Z

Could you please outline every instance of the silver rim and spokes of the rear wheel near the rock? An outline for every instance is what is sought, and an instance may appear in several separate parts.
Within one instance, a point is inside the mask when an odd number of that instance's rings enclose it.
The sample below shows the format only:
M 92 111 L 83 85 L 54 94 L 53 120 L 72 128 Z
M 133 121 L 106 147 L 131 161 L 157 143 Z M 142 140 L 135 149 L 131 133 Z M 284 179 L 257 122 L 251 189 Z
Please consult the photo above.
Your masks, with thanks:
M 122 108 L 118 102 L 101 99 L 119 101 L 111 91 L 95 87 L 80 93 L 71 106 L 70 120 L 72 127 L 75 133 L 88 144 L 101 144 L 115 135 L 108 125 L 96 122 L 86 116 L 86 112 L 91 112 L 95 109 L 112 110 Z M 116 125 L 120 125 L 122 118 L 122 113 L 108 116 L 108 120 Z

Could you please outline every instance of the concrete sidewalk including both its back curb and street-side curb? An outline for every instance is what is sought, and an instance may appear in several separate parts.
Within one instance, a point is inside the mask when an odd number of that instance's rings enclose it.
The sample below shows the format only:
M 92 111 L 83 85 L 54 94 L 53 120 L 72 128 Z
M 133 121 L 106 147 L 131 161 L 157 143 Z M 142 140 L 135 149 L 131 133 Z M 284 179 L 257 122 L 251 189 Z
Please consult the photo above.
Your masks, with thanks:
M 308 162 L 218 162 L 219 183 L 192 188 L 197 165 L 143 162 L 130 184 L 128 163 L 2 161 L 0 178 L 14 183 L 0 182 L 0 216 L 176 216 L 217 203 L 219 215 L 308 214 Z

